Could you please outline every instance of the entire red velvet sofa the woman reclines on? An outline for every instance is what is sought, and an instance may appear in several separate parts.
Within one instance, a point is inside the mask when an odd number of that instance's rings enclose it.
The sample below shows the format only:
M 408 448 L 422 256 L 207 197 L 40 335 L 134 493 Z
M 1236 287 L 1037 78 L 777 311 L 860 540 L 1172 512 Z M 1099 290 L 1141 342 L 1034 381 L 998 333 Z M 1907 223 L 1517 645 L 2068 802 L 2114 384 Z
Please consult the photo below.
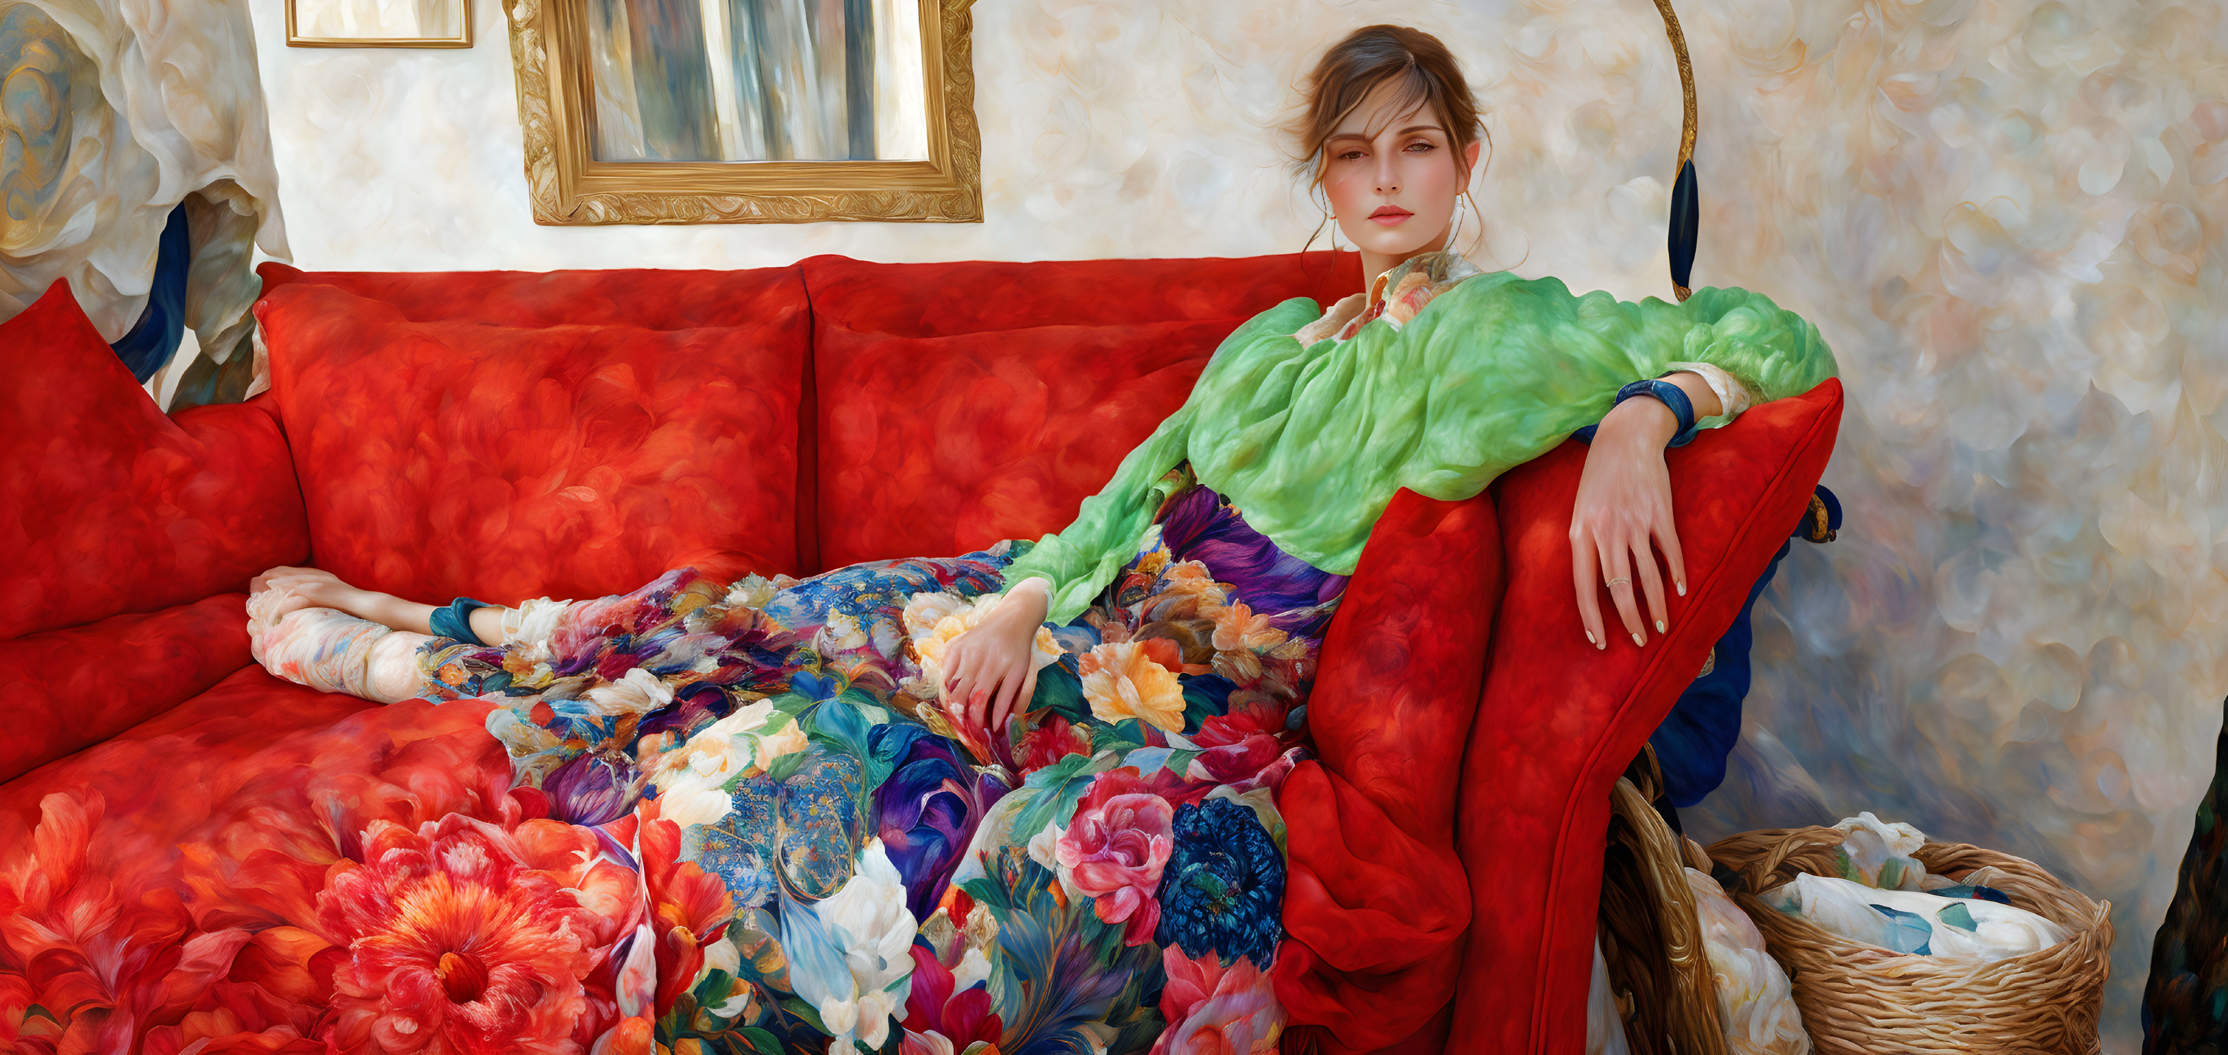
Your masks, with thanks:
M 303 913 L 278 872 L 370 817 L 504 792 L 486 706 L 379 708 L 252 663 L 263 568 L 517 601 L 1036 536 L 1239 321 L 1359 269 L 263 276 L 274 387 L 243 405 L 160 414 L 60 285 L 0 327 L 0 1046 L 310 1033 L 316 939 L 276 926 Z M 1466 503 L 1393 503 L 1326 643 L 1321 761 L 1281 792 L 1288 1046 L 1580 1051 L 1609 786 L 1805 510 L 1838 418 L 1827 383 L 1671 452 L 1693 590 L 1644 650 L 1580 632 L 1582 447 Z

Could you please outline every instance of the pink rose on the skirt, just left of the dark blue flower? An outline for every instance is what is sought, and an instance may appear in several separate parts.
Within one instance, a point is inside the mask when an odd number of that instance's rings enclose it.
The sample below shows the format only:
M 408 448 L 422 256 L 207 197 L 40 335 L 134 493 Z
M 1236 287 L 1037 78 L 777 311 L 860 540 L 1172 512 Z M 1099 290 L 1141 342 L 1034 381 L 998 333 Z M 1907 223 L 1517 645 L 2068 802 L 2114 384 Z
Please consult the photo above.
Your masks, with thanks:
M 1161 868 L 1176 846 L 1176 808 L 1152 792 L 1136 768 L 1092 781 L 1054 857 L 1061 881 L 1092 897 L 1103 924 L 1123 924 L 1123 941 L 1143 946 L 1161 921 Z

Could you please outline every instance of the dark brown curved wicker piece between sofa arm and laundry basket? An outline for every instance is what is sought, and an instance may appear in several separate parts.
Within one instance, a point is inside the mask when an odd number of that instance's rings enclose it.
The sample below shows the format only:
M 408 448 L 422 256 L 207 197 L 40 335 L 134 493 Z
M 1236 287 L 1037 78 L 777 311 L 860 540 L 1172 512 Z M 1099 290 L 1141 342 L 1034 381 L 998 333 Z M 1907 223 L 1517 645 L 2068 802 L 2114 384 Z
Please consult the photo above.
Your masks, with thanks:
M 1684 868 L 1702 848 L 1655 812 L 1662 770 L 1642 752 L 1609 795 L 1602 855 L 1602 959 L 1633 1055 L 1727 1055 L 1718 988 L 1702 953 Z

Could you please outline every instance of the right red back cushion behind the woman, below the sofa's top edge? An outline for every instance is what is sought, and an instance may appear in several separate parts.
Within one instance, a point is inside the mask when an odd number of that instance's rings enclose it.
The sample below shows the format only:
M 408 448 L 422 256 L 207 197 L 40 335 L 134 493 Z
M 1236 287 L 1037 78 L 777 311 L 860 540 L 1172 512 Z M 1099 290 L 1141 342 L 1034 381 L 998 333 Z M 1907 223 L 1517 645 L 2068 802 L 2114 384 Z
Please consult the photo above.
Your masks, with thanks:
M 820 561 L 1065 528 L 1192 394 L 1239 318 L 900 338 L 822 321 Z

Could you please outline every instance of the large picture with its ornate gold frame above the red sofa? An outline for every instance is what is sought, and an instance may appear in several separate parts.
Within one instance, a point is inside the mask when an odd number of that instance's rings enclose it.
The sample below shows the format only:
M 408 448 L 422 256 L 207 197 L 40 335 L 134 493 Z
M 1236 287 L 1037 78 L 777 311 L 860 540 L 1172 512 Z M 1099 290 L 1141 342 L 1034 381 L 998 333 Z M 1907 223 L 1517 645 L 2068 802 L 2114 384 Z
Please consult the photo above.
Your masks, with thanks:
M 506 0 L 535 223 L 983 218 L 967 0 Z

